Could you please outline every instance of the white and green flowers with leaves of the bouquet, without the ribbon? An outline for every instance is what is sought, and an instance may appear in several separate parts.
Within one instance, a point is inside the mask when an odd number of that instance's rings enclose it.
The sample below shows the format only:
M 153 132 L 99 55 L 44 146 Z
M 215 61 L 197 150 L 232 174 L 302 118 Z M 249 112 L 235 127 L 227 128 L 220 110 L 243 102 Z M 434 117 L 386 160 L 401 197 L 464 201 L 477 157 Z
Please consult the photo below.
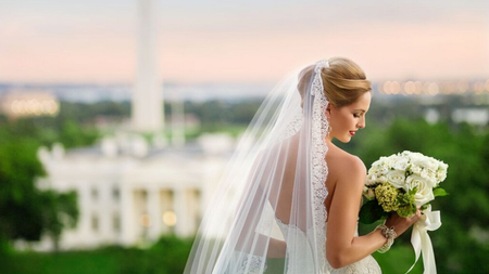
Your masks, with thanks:
M 368 170 L 363 195 L 368 199 L 360 211 L 360 221 L 373 223 L 390 212 L 401 217 L 425 210 L 429 201 L 447 193 L 440 183 L 448 165 L 421 153 L 402 152 L 380 157 Z

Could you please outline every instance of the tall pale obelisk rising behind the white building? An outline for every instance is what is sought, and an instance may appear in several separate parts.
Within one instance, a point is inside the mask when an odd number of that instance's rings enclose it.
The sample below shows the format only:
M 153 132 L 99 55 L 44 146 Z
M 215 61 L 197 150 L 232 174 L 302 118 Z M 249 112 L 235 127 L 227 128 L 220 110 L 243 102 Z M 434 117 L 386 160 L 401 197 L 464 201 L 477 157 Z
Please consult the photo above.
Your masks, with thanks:
M 154 0 L 138 0 L 136 83 L 131 104 L 131 127 L 138 132 L 158 132 L 164 127 L 155 11 Z

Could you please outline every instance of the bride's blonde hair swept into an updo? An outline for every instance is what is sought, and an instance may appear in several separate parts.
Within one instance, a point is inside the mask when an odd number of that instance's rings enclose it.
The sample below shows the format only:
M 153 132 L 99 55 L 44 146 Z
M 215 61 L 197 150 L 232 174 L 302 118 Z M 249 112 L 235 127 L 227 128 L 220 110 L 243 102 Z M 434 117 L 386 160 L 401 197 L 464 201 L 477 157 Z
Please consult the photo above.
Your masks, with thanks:
M 323 68 L 324 93 L 335 107 L 353 104 L 365 92 L 372 90 L 365 73 L 353 61 L 344 57 L 328 60 L 329 67 Z

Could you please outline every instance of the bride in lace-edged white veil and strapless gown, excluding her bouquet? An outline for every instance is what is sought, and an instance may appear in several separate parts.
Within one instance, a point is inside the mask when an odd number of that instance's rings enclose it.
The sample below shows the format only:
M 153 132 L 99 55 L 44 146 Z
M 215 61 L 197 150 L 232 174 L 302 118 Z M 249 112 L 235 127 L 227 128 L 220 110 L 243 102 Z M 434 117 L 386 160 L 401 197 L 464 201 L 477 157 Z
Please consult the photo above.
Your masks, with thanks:
M 419 212 L 358 235 L 366 168 L 331 141 L 365 127 L 371 90 L 342 57 L 280 81 L 226 168 L 185 273 L 380 273 L 371 253 L 388 250 Z

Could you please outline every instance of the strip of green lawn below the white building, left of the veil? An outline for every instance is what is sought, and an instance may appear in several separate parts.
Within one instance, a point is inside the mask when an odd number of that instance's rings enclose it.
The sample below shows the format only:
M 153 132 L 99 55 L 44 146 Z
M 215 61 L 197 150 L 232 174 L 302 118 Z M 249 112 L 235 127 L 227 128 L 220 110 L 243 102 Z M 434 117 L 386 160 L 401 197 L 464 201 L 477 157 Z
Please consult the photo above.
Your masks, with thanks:
M 183 273 L 191 244 L 191 238 L 168 235 L 148 249 L 113 246 L 87 251 L 18 252 L 3 260 L 0 257 L 0 273 Z

